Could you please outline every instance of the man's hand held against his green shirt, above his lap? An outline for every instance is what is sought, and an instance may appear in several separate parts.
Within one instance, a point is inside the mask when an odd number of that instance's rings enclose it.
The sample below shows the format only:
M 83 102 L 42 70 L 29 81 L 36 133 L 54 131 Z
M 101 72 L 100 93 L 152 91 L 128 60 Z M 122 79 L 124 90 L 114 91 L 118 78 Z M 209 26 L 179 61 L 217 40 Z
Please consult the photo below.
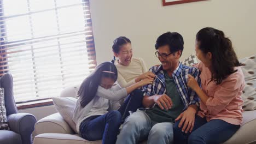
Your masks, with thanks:
M 154 95 L 154 101 L 162 110 L 168 110 L 172 107 L 172 100 L 166 94 Z

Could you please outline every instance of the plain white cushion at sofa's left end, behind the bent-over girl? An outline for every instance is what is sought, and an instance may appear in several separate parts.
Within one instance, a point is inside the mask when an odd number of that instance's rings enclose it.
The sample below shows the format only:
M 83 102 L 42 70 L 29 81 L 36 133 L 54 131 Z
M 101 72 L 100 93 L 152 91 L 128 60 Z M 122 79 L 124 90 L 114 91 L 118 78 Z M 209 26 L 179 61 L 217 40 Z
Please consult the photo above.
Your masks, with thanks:
M 78 133 L 76 125 L 72 120 L 77 99 L 72 97 L 53 98 L 53 103 L 56 110 L 60 113 L 64 120 L 70 125 L 70 127 L 75 131 L 75 133 Z

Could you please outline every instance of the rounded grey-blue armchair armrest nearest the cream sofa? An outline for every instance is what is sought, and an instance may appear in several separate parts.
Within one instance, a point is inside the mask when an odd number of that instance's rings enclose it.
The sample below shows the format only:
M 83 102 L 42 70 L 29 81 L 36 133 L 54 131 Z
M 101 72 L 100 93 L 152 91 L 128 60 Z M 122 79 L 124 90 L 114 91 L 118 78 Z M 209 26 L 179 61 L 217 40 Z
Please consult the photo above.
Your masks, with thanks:
M 31 134 L 37 119 L 30 113 L 14 113 L 7 116 L 9 127 L 21 135 L 22 143 L 32 143 Z

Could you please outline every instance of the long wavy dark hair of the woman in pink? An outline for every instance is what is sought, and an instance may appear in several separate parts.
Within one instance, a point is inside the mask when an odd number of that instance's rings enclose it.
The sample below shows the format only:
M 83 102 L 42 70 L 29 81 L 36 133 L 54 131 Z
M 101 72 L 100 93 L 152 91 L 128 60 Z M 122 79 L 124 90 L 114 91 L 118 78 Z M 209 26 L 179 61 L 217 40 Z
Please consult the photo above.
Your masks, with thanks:
M 237 71 L 234 70 L 234 67 L 241 65 L 231 40 L 225 37 L 223 31 L 206 27 L 196 34 L 196 40 L 199 42 L 199 49 L 203 53 L 212 53 L 212 81 L 216 82 L 217 85 Z

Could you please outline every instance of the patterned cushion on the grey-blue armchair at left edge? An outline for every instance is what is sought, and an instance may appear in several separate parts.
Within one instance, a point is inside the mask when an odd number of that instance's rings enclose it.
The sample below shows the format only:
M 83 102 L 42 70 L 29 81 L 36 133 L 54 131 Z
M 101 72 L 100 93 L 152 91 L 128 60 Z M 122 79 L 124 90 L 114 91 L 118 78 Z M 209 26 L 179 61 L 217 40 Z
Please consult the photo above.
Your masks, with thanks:
M 0 87 L 0 129 L 9 129 L 4 105 L 4 88 Z

